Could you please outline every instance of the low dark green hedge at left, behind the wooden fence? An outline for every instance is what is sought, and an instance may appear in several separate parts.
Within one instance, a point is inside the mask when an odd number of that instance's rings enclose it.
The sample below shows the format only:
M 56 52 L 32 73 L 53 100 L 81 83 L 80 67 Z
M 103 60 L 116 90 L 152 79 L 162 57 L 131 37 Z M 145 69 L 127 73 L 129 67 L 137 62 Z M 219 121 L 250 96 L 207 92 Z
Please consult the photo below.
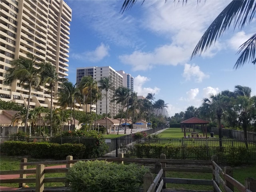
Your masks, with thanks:
M 9 156 L 30 155 L 33 158 L 53 158 L 63 160 L 68 155 L 74 159 L 86 158 L 83 144 L 56 144 L 49 142 L 7 141 L 1 144 L 1 153 Z

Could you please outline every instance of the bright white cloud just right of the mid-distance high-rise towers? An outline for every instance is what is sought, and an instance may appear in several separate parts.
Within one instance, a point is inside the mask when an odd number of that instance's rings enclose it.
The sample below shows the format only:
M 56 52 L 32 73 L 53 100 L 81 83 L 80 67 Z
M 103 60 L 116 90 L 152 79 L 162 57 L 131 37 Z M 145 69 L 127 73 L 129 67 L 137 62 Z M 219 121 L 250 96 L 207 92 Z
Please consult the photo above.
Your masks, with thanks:
M 158 94 L 160 91 L 158 87 L 143 87 L 144 83 L 147 81 L 150 81 L 150 79 L 145 76 L 138 75 L 134 78 L 134 91 L 138 93 L 138 96 L 142 95 L 146 97 L 148 93 Z

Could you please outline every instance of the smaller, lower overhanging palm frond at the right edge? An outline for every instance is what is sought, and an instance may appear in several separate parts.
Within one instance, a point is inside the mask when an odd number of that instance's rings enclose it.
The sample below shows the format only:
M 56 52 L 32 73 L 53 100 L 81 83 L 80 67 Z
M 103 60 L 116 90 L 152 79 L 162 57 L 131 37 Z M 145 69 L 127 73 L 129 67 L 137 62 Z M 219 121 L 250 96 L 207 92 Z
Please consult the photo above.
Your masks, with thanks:
M 244 44 L 242 44 L 238 50 L 237 54 L 240 54 L 236 64 L 234 65 L 234 69 L 238 69 L 244 65 L 247 60 L 255 59 L 256 52 L 256 33 L 248 39 Z M 253 63 L 254 61 L 252 61 Z

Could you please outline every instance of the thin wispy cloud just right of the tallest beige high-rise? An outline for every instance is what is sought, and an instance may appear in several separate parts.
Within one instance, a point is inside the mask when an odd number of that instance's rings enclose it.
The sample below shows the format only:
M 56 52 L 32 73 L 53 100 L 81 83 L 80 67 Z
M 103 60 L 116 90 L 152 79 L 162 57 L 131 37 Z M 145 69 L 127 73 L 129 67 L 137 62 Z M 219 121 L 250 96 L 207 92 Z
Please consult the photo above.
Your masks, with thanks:
M 72 57 L 79 60 L 89 60 L 91 62 L 98 62 L 106 56 L 109 56 L 108 51 L 109 46 L 101 43 L 100 46 L 98 46 L 93 51 L 87 51 L 81 54 L 72 54 Z

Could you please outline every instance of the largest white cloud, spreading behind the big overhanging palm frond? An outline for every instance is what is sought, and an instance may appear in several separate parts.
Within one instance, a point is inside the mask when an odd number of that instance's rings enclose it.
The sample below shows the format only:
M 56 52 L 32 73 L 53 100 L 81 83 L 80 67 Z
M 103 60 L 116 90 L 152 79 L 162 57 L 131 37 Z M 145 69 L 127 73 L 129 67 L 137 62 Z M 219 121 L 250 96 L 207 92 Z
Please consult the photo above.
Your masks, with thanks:
M 216 10 L 224 8 L 227 2 L 207 1 L 197 5 L 195 1 L 191 1 L 184 6 L 173 2 L 144 2 L 141 7 L 144 11 L 141 27 L 164 36 L 168 39 L 165 41 L 167 43 L 151 51 L 136 50 L 119 56 L 119 59 L 122 63 L 131 65 L 133 70 L 148 70 L 156 65 L 176 66 L 188 62 L 203 32 L 218 15 Z M 216 41 L 202 56 L 212 57 L 222 48 L 223 45 Z

